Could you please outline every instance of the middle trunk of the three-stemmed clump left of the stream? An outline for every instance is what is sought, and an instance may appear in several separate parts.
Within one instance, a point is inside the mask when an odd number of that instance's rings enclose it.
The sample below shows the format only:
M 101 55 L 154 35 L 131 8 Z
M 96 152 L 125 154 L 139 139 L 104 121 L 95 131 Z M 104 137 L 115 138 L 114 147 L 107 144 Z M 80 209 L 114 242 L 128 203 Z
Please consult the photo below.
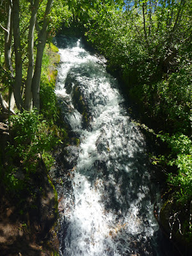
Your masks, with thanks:
M 29 34 L 28 34 L 28 75 L 26 80 L 26 91 L 25 91 L 25 102 L 24 106 L 26 110 L 31 110 L 32 108 L 32 92 L 31 92 L 31 83 L 33 78 L 34 71 L 34 31 L 35 31 L 35 23 L 36 23 L 36 15 L 38 11 L 38 5 L 40 0 L 35 0 L 34 3 L 31 0 L 31 19 L 29 24 Z

